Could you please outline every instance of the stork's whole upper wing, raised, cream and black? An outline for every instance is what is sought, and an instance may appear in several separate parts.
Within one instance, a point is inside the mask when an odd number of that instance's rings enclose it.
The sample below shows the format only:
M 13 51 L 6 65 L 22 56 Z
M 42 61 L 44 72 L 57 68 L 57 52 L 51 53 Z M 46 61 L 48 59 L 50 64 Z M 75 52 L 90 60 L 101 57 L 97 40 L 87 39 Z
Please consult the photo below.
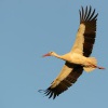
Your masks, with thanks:
M 95 9 L 92 11 L 86 6 L 85 11 L 82 8 L 80 12 L 80 27 L 78 29 L 77 38 L 71 52 L 80 53 L 84 56 L 90 56 L 96 36 L 96 21 L 97 14 Z

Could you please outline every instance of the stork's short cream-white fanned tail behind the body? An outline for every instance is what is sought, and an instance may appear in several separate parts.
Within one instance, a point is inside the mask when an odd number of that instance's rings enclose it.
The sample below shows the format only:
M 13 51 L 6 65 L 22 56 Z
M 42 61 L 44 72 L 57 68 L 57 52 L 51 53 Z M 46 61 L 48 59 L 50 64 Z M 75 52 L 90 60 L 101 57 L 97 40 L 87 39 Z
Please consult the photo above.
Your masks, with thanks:
M 83 69 L 86 71 L 86 72 L 91 72 L 93 71 L 97 66 L 97 60 L 95 57 L 89 57 L 87 58 L 87 65 L 85 67 L 83 67 Z

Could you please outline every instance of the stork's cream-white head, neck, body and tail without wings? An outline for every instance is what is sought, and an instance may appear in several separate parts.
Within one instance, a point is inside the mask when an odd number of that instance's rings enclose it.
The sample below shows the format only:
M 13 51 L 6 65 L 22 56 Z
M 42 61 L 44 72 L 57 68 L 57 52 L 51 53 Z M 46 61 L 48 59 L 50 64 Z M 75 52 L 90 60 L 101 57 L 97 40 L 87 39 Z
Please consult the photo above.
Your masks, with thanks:
M 73 52 L 69 52 L 65 55 L 57 55 L 56 53 L 53 52 L 52 56 L 58 57 L 71 64 L 82 65 L 83 69 L 86 72 L 94 70 L 97 65 L 97 60 L 95 57 L 85 57 L 79 53 L 73 53 Z

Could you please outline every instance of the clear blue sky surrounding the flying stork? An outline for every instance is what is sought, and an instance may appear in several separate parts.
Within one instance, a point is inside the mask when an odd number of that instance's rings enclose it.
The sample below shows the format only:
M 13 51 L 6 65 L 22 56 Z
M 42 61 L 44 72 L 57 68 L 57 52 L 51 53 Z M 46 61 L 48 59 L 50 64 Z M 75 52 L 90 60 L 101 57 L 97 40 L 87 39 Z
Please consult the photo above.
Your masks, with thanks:
M 70 51 L 79 27 L 79 9 L 98 12 L 92 56 L 105 70 L 83 72 L 56 99 L 46 89 L 65 62 L 41 55 Z M 107 0 L 0 0 L 0 108 L 108 108 Z

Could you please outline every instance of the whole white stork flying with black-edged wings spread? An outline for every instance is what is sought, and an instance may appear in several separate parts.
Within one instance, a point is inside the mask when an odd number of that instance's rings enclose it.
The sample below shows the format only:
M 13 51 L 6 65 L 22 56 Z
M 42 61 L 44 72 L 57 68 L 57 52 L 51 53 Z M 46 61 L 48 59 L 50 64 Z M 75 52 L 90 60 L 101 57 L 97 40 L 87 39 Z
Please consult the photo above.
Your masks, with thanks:
M 82 6 L 79 10 L 80 13 L 80 26 L 77 32 L 76 41 L 69 53 L 58 55 L 55 52 L 49 52 L 45 56 L 55 56 L 65 60 L 65 65 L 60 70 L 60 73 L 51 83 L 51 86 L 46 90 L 39 90 L 44 92 L 49 98 L 53 99 L 60 93 L 70 87 L 77 79 L 82 75 L 83 70 L 90 72 L 94 69 L 105 69 L 97 66 L 95 57 L 90 57 L 96 37 L 96 21 L 98 13 L 95 14 L 95 9 L 86 6 L 85 10 Z

